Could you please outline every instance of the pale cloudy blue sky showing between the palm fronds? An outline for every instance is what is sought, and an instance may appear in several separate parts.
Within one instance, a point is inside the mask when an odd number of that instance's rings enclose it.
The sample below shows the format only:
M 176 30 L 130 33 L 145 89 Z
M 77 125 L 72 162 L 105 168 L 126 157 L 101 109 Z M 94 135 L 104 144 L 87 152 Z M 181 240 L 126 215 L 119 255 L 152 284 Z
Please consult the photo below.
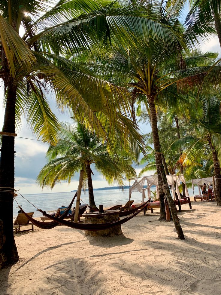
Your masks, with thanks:
M 218 52 L 220 56 L 219 41 L 216 36 L 208 41 L 201 41 L 201 50 L 203 52 L 211 51 Z M 2 85 L 3 86 L 3 85 Z M 0 90 L 0 130 L 2 130 L 4 120 L 4 109 L 3 109 L 3 87 Z M 60 114 L 56 109 L 53 98 L 50 98 L 50 105 L 53 112 L 57 115 L 60 121 L 69 121 L 70 118 L 67 114 Z M 140 124 L 142 133 L 146 134 L 150 132 L 150 125 Z M 78 175 L 73 178 L 71 184 L 68 186 L 67 183 L 57 183 L 53 190 L 50 188 L 44 188 L 41 190 L 35 183 L 36 177 L 41 168 L 46 164 L 45 153 L 48 149 L 48 144 L 40 143 L 34 140 L 27 140 L 19 137 L 27 137 L 36 139 L 32 135 L 32 132 L 28 129 L 25 119 L 22 120 L 22 128 L 17 130 L 17 137 L 15 137 L 15 188 L 20 189 L 21 194 L 37 194 L 47 192 L 70 192 L 71 190 L 77 189 L 78 186 Z M 139 174 L 141 168 L 136 167 L 137 174 Z M 106 187 L 108 186 L 106 180 L 102 175 L 94 172 L 93 187 Z

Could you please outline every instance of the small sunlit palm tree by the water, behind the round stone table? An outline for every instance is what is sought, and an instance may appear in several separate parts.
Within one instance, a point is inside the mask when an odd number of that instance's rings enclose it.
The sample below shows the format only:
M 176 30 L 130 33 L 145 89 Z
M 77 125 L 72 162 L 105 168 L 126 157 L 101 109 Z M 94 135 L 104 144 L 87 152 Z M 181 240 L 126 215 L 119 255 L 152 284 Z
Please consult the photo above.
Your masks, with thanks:
M 58 181 L 68 181 L 81 169 L 84 171 L 84 181 L 87 179 L 89 206 L 97 209 L 94 201 L 92 185 L 92 166 L 101 173 L 109 184 L 116 183 L 123 186 L 124 179 L 136 177 L 132 161 L 125 151 L 118 152 L 118 157 L 111 156 L 107 151 L 107 143 L 84 124 L 78 123 L 73 127 L 70 124 L 61 124 L 59 140 L 55 146 L 47 151 L 48 163 L 41 169 L 37 183 L 44 188 L 51 189 Z M 84 188 L 86 183 L 84 182 Z

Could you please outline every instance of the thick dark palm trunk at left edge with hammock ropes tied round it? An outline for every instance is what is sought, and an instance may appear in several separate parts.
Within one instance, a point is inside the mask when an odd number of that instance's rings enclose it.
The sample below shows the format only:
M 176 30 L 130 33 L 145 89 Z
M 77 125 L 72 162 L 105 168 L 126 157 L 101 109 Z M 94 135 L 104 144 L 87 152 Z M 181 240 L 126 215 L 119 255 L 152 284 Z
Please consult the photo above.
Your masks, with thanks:
M 5 106 L 3 131 L 15 133 L 15 101 L 17 87 L 8 83 L 8 93 Z M 14 136 L 2 136 L 0 157 L 0 187 L 9 187 L 11 192 L 0 190 L 0 219 L 3 221 L 5 243 L 0 251 L 6 257 L 4 266 L 14 264 L 19 260 L 13 233 L 13 197 L 14 197 Z

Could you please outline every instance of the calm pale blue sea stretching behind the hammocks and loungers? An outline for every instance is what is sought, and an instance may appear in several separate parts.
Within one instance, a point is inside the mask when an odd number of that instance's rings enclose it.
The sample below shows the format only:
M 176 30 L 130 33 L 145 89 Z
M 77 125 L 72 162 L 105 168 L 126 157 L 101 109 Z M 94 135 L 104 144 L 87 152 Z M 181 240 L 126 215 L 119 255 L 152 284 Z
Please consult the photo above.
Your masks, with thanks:
M 151 191 L 155 191 L 155 188 L 151 188 Z M 192 195 L 192 190 L 188 189 L 189 195 Z M 75 192 L 59 192 L 59 193 L 49 193 L 49 194 L 34 194 L 34 195 L 24 195 L 24 197 L 34 204 L 37 208 L 42 209 L 48 213 L 55 212 L 58 207 L 62 205 L 68 206 L 73 198 Z M 147 194 L 146 194 L 147 197 Z M 81 193 L 81 199 L 89 204 L 88 192 L 85 194 Z M 129 189 L 125 189 L 124 193 L 119 189 L 104 189 L 104 190 L 95 190 L 94 199 L 97 207 L 99 205 L 104 205 L 104 207 L 111 207 L 116 204 L 125 205 L 129 200 Z M 133 192 L 131 199 L 134 200 L 134 204 L 140 204 L 142 200 L 142 194 L 140 192 Z M 42 216 L 42 213 L 36 210 L 29 202 L 23 199 L 20 195 L 16 197 L 16 200 L 19 205 L 22 205 L 22 208 L 26 212 L 35 212 L 34 217 Z M 83 202 L 81 202 L 83 204 Z M 75 202 L 72 207 L 75 207 Z M 13 206 L 13 216 L 17 216 L 17 211 L 19 210 L 17 203 L 14 201 Z

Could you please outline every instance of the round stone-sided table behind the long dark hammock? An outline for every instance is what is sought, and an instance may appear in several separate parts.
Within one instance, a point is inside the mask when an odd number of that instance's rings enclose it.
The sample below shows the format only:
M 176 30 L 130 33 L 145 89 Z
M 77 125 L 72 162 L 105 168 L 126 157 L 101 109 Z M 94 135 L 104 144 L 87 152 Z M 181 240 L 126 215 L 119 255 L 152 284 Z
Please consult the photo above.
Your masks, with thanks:
M 90 212 L 84 213 L 82 216 L 84 217 L 84 223 L 94 224 L 94 223 L 106 223 L 111 221 L 119 220 L 119 210 L 104 210 L 104 213 L 99 212 Z M 113 237 L 115 235 L 121 235 L 121 226 L 114 226 L 111 229 L 98 230 L 98 231 L 89 231 L 85 230 L 86 236 L 99 236 L 99 237 Z

